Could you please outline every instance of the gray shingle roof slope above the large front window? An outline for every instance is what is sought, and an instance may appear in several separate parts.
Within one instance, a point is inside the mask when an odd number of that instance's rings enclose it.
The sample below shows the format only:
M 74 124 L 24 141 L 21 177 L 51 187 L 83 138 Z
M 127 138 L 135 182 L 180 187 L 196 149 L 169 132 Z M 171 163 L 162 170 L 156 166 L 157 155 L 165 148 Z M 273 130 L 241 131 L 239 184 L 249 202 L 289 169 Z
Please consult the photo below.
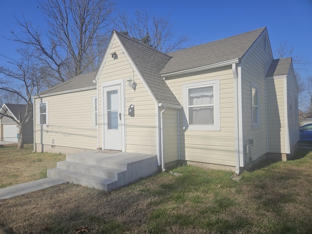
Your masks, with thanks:
M 159 74 L 183 71 L 232 59 L 241 59 L 266 28 L 169 53 L 172 57 Z

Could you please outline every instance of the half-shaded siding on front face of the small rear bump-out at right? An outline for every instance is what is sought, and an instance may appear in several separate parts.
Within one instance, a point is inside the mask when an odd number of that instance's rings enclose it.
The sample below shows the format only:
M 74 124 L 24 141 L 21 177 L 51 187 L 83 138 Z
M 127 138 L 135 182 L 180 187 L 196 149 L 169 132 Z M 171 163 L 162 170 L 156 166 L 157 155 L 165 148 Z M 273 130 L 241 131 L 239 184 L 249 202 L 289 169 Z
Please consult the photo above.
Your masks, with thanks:
M 269 153 L 285 152 L 284 78 L 267 79 Z

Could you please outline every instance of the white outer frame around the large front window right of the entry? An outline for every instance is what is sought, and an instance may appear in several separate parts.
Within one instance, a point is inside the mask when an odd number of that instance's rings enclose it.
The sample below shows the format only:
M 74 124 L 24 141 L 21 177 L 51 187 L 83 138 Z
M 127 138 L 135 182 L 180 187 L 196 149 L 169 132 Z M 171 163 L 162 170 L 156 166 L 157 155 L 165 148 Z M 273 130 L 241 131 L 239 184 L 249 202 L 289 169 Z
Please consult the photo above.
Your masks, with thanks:
M 213 86 L 214 92 L 214 124 L 189 124 L 189 93 L 188 90 L 192 88 L 200 88 L 205 86 Z M 183 109 L 186 116 L 187 126 L 189 130 L 203 131 L 220 131 L 220 81 L 218 79 L 202 81 L 196 83 L 189 83 L 182 85 L 182 101 L 183 101 Z

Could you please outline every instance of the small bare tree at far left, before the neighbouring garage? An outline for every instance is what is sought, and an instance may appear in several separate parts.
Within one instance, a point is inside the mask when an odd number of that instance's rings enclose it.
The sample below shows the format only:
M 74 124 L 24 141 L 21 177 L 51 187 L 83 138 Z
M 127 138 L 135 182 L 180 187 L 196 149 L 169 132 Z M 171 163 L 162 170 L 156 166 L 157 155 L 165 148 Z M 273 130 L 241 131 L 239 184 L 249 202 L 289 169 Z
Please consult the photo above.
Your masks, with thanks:
M 20 60 L 10 62 L 13 68 L 0 67 L 0 74 L 5 76 L 5 78 L 0 79 L 0 90 L 18 96 L 26 103 L 26 112 L 23 116 L 19 113 L 19 121 L 4 113 L 4 116 L 11 118 L 19 126 L 18 148 L 22 149 L 24 147 L 26 124 L 32 121 L 33 117 L 31 96 L 41 91 L 41 83 L 46 72 L 45 68 L 40 65 L 40 60 L 36 58 L 37 56 L 34 56 L 34 51 L 26 47 L 19 49 L 18 53 L 20 54 Z

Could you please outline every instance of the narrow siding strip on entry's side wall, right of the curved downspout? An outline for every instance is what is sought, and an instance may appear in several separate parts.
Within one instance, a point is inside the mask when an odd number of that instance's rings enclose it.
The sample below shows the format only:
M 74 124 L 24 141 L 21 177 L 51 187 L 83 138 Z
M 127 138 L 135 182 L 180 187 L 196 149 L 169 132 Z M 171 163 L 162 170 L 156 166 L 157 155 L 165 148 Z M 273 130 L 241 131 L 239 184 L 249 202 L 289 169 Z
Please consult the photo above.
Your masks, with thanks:
M 163 146 L 165 163 L 179 159 L 177 112 L 178 110 L 176 109 L 167 108 L 163 115 Z

